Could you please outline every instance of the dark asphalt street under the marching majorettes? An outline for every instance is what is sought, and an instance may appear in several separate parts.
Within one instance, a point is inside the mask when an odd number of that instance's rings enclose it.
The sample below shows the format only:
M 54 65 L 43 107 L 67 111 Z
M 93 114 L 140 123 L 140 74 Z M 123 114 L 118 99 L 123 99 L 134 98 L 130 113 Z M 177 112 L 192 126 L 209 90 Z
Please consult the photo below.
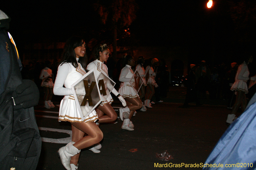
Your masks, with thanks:
M 202 169 L 185 165 L 204 164 L 228 128 L 225 121 L 230 110 L 223 100 L 203 100 L 200 107 L 191 103 L 190 107 L 182 108 L 185 94 L 186 88 L 172 87 L 164 102 L 152 104 L 153 108 L 146 112 L 137 111 L 132 117 L 133 131 L 121 129 L 120 119 L 102 123 L 101 152 L 83 149 L 79 170 L 150 170 L 166 163 L 169 169 L 174 164 L 184 164 L 175 169 Z M 44 108 L 43 100 L 35 107 L 43 140 L 37 170 L 64 170 L 57 150 L 71 141 L 72 134 L 69 122 L 58 122 L 60 100 L 59 96 L 53 97 L 55 108 Z M 121 103 L 115 101 L 112 106 L 117 109 Z

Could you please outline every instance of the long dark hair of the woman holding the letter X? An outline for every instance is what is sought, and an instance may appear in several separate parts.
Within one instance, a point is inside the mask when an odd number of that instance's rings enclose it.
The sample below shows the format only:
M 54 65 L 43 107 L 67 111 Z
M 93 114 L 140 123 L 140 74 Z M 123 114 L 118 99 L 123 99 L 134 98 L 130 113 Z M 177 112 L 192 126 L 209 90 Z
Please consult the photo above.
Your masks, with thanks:
M 64 52 L 62 54 L 62 58 L 60 60 L 61 65 L 64 63 L 71 63 L 75 68 L 78 67 L 78 63 L 76 61 L 76 53 L 75 48 L 81 46 L 84 43 L 82 37 L 70 37 L 64 46 Z M 79 57 L 79 63 L 82 65 L 84 70 L 86 70 L 87 64 L 87 56 L 86 53 L 84 57 Z

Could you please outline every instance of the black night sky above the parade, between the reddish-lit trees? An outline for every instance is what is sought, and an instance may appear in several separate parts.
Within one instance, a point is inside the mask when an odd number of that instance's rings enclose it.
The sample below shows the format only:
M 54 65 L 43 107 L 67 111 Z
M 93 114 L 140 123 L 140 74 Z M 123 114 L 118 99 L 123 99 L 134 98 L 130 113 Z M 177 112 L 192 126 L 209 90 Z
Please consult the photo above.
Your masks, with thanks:
M 137 18 L 129 26 L 138 40 L 136 45 L 183 47 L 191 58 L 207 60 L 214 57 L 227 63 L 234 62 L 246 50 L 254 52 L 254 41 L 243 44 L 237 38 L 228 1 L 213 0 L 212 9 L 206 7 L 208 0 L 136 2 L 139 6 Z M 51 3 L 11 0 L 2 2 L 0 8 L 12 18 L 9 31 L 19 47 L 24 41 L 65 42 L 77 32 L 83 32 L 88 41 L 99 38 L 100 35 L 94 36 L 107 26 L 100 23 L 93 3 L 93 0 Z M 112 37 L 111 32 L 107 33 Z M 254 34 L 249 34 L 253 40 Z

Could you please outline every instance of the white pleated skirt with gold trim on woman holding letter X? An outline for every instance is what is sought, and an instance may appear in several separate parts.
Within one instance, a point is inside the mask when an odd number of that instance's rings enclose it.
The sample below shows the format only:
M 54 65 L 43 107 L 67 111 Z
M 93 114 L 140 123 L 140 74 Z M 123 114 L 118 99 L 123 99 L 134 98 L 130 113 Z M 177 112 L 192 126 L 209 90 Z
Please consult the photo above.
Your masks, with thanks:
M 82 118 L 79 114 L 79 110 L 76 106 L 76 101 L 74 96 L 64 96 L 60 102 L 60 111 L 59 111 L 59 122 L 68 121 L 68 122 L 95 122 L 99 119 L 95 110 L 93 110 L 85 119 L 82 121 Z

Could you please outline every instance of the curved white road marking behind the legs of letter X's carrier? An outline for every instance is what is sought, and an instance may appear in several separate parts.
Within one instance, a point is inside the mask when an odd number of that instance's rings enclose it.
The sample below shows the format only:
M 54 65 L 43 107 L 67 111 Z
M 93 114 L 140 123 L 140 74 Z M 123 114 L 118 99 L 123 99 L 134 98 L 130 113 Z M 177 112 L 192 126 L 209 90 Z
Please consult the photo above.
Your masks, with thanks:
M 68 135 L 70 135 L 70 137 L 61 138 L 61 139 L 52 139 L 52 138 L 42 137 L 42 142 L 50 142 L 50 143 L 56 143 L 56 144 L 68 144 L 69 142 L 72 141 L 72 130 L 52 129 L 52 128 L 42 128 L 42 127 L 38 127 L 38 129 L 44 130 L 44 131 L 67 133 Z

